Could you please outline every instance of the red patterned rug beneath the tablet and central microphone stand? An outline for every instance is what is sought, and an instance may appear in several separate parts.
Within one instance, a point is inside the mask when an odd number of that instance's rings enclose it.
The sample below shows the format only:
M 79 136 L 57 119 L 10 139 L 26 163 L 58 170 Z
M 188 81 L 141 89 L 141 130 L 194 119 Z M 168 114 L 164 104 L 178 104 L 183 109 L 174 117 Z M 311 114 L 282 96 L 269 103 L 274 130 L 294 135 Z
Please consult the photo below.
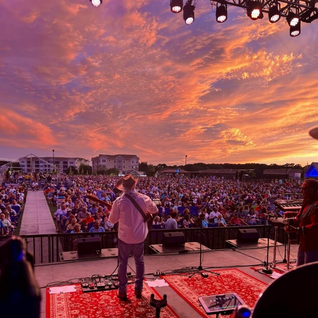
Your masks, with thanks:
M 166 275 L 162 278 L 203 317 L 211 315 L 206 315 L 204 309 L 199 306 L 198 297 L 236 293 L 247 306 L 253 307 L 259 294 L 267 287 L 266 283 L 236 268 L 215 272 L 221 275 L 208 273 L 209 278 L 203 278 L 199 274 L 192 278 L 189 278 L 189 275 Z M 224 317 L 233 317 L 233 315 Z

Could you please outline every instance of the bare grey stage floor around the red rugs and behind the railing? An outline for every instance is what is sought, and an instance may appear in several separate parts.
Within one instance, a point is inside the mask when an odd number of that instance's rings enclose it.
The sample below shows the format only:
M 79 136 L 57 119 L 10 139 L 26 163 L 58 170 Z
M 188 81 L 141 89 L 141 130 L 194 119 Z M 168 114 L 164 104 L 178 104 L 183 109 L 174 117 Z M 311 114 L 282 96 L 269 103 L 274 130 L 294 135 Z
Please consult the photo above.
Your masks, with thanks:
M 273 279 L 266 275 L 260 274 L 252 270 L 250 267 L 261 265 L 266 260 L 266 250 L 264 248 L 251 249 L 228 249 L 228 250 L 213 250 L 204 252 L 202 266 L 211 267 L 211 270 L 227 267 L 238 267 L 241 271 L 269 284 Z M 290 260 L 295 260 L 297 256 L 297 245 L 291 246 Z M 281 254 L 281 256 L 280 256 Z M 281 261 L 284 258 L 284 246 L 279 246 L 279 251 L 276 253 L 276 261 Z M 155 273 L 157 270 L 161 272 L 166 270 L 175 270 L 182 267 L 198 266 L 199 253 L 189 252 L 186 254 L 154 254 L 145 255 L 145 273 Z M 273 260 L 273 247 L 269 248 L 269 262 Z M 60 262 L 50 265 L 42 265 L 35 267 L 35 276 L 40 287 L 56 281 L 65 281 L 79 277 L 88 277 L 93 274 L 107 275 L 114 271 L 117 266 L 117 258 L 83 260 L 74 262 Z M 134 259 L 130 258 L 128 266 L 132 273 L 135 273 Z M 129 269 L 128 269 L 129 270 Z M 116 271 L 117 273 L 117 271 Z M 147 275 L 147 277 L 154 277 Z M 194 277 L 195 279 L 195 277 Z M 159 294 L 167 294 L 167 300 L 171 308 L 179 317 L 201 317 L 186 301 L 184 301 L 171 287 L 156 287 Z M 45 295 L 46 288 L 41 289 L 41 318 L 45 318 Z

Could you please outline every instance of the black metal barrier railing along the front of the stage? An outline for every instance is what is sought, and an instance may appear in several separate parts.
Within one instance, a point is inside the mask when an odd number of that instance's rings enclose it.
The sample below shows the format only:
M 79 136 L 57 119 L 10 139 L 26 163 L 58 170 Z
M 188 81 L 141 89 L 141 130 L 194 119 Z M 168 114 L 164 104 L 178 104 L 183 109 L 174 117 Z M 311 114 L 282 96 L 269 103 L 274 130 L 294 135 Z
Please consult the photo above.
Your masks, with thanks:
M 239 229 L 255 228 L 261 238 L 267 238 L 268 229 L 270 229 L 270 238 L 273 239 L 273 227 L 268 225 L 244 226 L 244 227 L 212 227 L 203 228 L 202 237 L 200 228 L 177 229 L 177 230 L 150 230 L 145 240 L 145 254 L 150 252 L 149 245 L 162 244 L 164 232 L 183 232 L 186 242 L 202 241 L 202 244 L 212 250 L 224 249 L 227 240 L 236 239 Z M 73 240 L 99 235 L 102 248 L 117 247 L 117 232 L 102 233 L 63 233 L 63 234 L 38 234 L 21 235 L 27 244 L 27 248 L 34 255 L 34 263 L 53 263 L 59 262 L 60 252 L 69 252 L 73 250 Z M 7 239 L 8 236 L 1 236 L 0 242 Z M 286 235 L 283 229 L 279 229 L 278 241 L 285 244 Z M 3 257 L 3 255 L 1 255 Z

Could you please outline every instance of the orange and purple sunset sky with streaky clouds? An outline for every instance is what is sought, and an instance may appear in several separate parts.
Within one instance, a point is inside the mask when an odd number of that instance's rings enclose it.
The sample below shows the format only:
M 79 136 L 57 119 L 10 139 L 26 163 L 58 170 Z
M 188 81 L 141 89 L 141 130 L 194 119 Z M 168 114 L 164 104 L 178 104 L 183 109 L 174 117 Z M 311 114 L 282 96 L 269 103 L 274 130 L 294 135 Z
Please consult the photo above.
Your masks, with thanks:
M 292 38 L 208 0 L 190 26 L 169 0 L 0 0 L 0 18 L 0 158 L 318 161 L 318 20 Z

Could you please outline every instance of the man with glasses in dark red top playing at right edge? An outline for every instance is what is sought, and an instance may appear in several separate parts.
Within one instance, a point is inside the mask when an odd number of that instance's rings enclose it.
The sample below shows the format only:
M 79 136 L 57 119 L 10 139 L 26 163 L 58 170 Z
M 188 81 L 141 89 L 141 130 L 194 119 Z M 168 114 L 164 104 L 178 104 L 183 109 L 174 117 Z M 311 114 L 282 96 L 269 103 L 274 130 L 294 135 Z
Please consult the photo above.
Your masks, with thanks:
M 318 261 L 318 180 L 306 179 L 301 193 L 304 198 L 301 209 L 284 213 L 285 218 L 295 218 L 294 225 L 287 225 L 285 231 L 298 235 L 296 266 Z

